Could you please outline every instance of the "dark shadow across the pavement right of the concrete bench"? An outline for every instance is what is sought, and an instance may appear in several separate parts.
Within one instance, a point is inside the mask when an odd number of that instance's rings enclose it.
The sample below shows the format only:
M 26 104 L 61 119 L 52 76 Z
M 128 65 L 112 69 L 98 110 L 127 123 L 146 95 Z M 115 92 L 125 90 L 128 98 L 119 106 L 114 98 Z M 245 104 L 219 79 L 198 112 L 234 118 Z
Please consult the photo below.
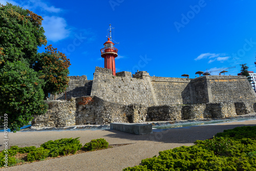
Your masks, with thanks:
M 163 143 L 194 143 L 196 140 L 205 140 L 212 138 L 217 133 L 224 130 L 234 129 L 238 126 L 256 126 L 254 124 L 229 124 L 229 125 L 200 125 L 200 126 L 187 126 L 175 129 L 163 130 L 161 132 L 154 132 L 148 135 L 134 135 L 124 133 L 116 130 L 106 130 L 111 132 L 105 137 L 120 138 L 135 141 L 156 141 Z M 113 134 L 115 133 L 115 134 Z

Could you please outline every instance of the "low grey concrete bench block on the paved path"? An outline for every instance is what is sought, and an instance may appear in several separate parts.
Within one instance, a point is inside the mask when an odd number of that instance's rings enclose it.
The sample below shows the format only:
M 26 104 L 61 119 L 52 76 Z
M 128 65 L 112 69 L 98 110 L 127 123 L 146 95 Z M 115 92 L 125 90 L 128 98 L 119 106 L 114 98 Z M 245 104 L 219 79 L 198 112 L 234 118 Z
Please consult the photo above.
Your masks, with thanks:
M 152 124 L 110 123 L 110 129 L 136 135 L 153 134 Z

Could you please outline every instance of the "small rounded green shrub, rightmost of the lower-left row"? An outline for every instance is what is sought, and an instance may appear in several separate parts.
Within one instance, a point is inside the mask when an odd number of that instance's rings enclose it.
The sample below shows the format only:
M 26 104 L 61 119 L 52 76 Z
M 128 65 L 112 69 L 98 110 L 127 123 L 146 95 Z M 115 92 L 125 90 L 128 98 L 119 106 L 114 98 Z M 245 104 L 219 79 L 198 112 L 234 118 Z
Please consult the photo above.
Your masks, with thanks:
M 83 148 L 86 149 L 86 151 L 94 151 L 96 149 L 104 149 L 108 147 L 109 143 L 103 138 L 91 140 L 91 142 L 88 142 L 83 146 Z

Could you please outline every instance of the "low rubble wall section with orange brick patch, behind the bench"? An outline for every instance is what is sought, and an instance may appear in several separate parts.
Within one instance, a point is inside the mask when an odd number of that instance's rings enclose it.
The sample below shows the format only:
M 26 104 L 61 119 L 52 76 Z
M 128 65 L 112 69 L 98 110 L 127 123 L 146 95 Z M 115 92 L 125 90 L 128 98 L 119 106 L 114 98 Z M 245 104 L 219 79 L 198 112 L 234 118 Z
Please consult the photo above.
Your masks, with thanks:
M 146 107 L 142 104 L 123 105 L 96 96 L 80 97 L 76 101 L 76 124 L 138 123 L 146 119 Z

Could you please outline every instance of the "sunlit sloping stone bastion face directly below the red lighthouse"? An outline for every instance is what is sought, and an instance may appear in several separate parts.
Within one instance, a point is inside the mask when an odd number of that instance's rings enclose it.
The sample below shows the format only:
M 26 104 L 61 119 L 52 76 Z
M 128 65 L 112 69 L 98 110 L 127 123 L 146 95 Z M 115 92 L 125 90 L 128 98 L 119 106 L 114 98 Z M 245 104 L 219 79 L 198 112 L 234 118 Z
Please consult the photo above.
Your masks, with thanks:
M 123 75 L 113 76 L 111 69 L 103 70 L 96 67 L 91 96 L 97 96 L 106 101 L 124 105 L 133 103 L 146 106 L 155 105 L 150 84 L 147 79 L 144 79 L 148 75 L 136 78 L 131 77 L 132 73 Z

